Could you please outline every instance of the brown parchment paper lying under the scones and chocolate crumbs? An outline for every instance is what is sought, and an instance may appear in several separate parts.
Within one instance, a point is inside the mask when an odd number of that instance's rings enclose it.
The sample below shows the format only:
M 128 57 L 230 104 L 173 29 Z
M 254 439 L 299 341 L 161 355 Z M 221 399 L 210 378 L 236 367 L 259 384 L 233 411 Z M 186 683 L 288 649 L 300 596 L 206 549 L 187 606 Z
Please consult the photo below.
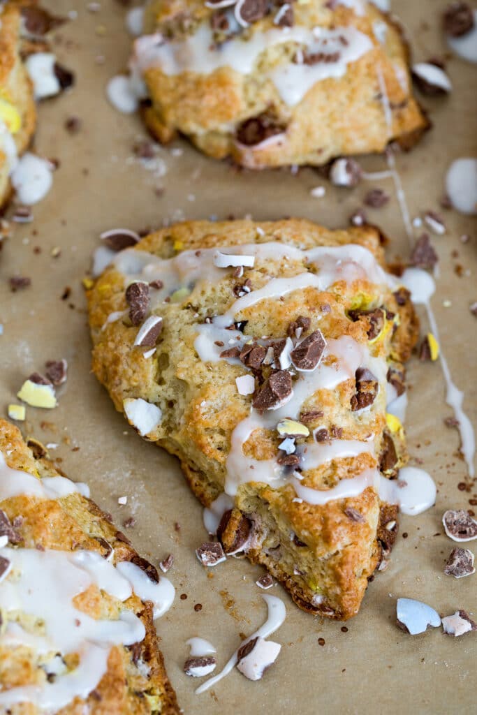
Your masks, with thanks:
M 240 644 L 240 633 L 252 633 L 265 620 L 265 603 L 255 586 L 262 572 L 233 558 L 210 571 L 200 566 L 194 550 L 206 538 L 202 508 L 176 460 L 137 437 L 90 373 L 81 279 L 99 245 L 99 232 L 230 214 L 250 214 L 257 220 L 295 215 L 338 227 L 347 224 L 368 189 L 381 185 L 393 198 L 383 209 L 369 209 L 368 216 L 392 237 L 391 260 L 408 256 L 408 239 L 389 180 L 363 182 L 348 190 L 334 189 L 312 169 L 297 176 L 285 170 L 237 172 L 181 141 L 162 149 L 164 163 L 157 162 L 155 172 L 145 169 L 132 155 L 134 141 L 145 136 L 139 119 L 118 114 L 104 96 L 109 77 L 127 64 L 130 39 L 124 31 L 124 9 L 114 0 L 103 0 L 97 12 L 88 11 L 87 5 L 49 2 L 60 14 L 77 11 L 77 19 L 60 28 L 55 41 L 61 61 L 76 72 L 77 84 L 39 108 L 36 151 L 59 159 L 60 166 L 49 196 L 34 207 L 34 222 L 17 227 L 1 252 L 1 412 L 6 415 L 6 405 L 17 401 L 23 380 L 33 370 L 41 371 L 45 360 L 67 358 L 69 378 L 59 391 L 59 407 L 27 408 L 21 428 L 44 443 L 56 443 L 51 456 L 72 479 L 91 485 L 93 498 L 119 525 L 129 516 L 136 518 L 128 533 L 145 556 L 157 563 L 174 554 L 169 577 L 177 597 L 157 627 L 170 679 L 186 713 L 475 712 L 477 634 L 451 638 L 435 629 L 413 637 L 395 627 L 399 596 L 426 601 L 442 615 L 458 608 L 477 614 L 477 576 L 456 581 L 443 575 L 443 563 L 455 544 L 441 524 L 446 508 L 472 508 L 468 500 L 477 487 L 470 493 L 458 490 L 458 483 L 466 480 L 466 466 L 458 456 L 457 431 L 443 423 L 452 413 L 445 403 L 441 367 L 416 358 L 408 375 L 410 464 L 422 464 L 433 474 L 438 501 L 422 516 L 402 516 L 390 566 L 370 583 L 359 615 L 346 623 L 348 631 L 342 631 L 342 623 L 300 612 L 275 586 L 269 593 L 284 599 L 287 619 L 272 636 L 282 644 L 282 652 L 262 681 L 251 683 L 234 671 L 213 691 L 196 696 L 200 681 L 182 674 L 187 638 L 202 636 L 215 644 L 218 671 Z M 440 32 L 444 6 L 445 0 L 393 1 L 416 60 L 446 53 Z M 98 64 L 99 56 L 104 64 Z M 476 155 L 476 67 L 455 56 L 449 56 L 447 66 L 453 94 L 448 99 L 423 98 L 434 128 L 412 153 L 397 159 L 411 217 L 438 208 L 451 160 Z M 72 116 L 82 120 L 74 136 L 64 129 L 65 119 Z M 382 157 L 369 157 L 363 164 L 372 170 L 385 168 Z M 325 197 L 311 197 L 310 189 L 321 184 Z M 162 197 L 155 192 L 158 187 L 164 188 Z M 476 225 L 456 212 L 446 212 L 445 218 L 446 235 L 433 237 L 441 277 L 432 304 L 441 347 L 454 380 L 465 390 L 464 408 L 476 425 L 477 319 L 468 309 L 477 300 Z M 459 240 L 464 233 L 471 235 L 465 245 Z M 57 258 L 51 256 L 54 247 L 61 247 Z M 7 280 L 16 273 L 30 276 L 32 285 L 12 294 Z M 71 295 L 62 300 L 67 287 Z M 423 315 L 423 330 L 426 327 Z M 126 506 L 117 503 L 122 495 L 128 497 Z M 180 531 L 174 529 L 176 522 Z M 197 603 L 202 604 L 199 612 Z M 325 639 L 324 646 L 318 638 Z

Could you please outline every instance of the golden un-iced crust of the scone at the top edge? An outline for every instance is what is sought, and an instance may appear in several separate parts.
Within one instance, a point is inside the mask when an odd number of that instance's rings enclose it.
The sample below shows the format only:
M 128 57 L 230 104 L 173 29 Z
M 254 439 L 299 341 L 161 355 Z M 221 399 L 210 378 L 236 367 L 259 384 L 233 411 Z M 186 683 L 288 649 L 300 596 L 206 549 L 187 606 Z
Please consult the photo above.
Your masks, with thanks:
M 255 169 L 320 165 L 333 157 L 383 152 L 393 140 L 404 148 L 412 147 L 430 125 L 412 94 L 408 46 L 400 26 L 372 3 L 365 4 L 362 16 L 344 5 L 337 4 L 334 9 L 326 5 L 325 0 L 293 4 L 295 26 L 330 29 L 352 25 L 373 43 L 373 49 L 348 64 L 343 77 L 316 82 L 290 107 L 267 71 L 291 63 L 299 46 L 296 42 L 262 51 L 250 74 L 230 66 L 210 74 L 193 70 L 165 74 L 159 66 L 151 66 L 144 73 L 152 102 L 143 113 L 149 131 L 161 142 L 180 132 L 211 157 L 230 156 L 237 164 Z M 181 41 L 197 28 L 208 26 L 217 12 L 221 11 L 197 1 L 153 1 L 147 9 L 145 29 Z M 262 31 L 276 30 L 274 14 L 245 30 L 245 46 Z M 376 36 L 376 26 L 385 32 L 382 42 Z M 220 34 L 217 41 L 221 41 Z M 387 95 L 390 118 L 383 94 Z M 243 123 L 264 113 L 272 115 L 275 126 L 286 129 L 280 142 L 247 146 L 239 142 L 237 133 Z

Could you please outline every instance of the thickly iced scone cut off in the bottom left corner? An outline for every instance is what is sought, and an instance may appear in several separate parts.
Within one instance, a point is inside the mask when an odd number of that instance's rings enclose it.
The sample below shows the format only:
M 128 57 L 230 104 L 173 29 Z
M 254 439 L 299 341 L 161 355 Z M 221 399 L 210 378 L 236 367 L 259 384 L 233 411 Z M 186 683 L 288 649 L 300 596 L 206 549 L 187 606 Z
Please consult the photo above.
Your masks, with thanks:
M 153 623 L 172 584 L 38 451 L 0 420 L 0 711 L 179 713 Z

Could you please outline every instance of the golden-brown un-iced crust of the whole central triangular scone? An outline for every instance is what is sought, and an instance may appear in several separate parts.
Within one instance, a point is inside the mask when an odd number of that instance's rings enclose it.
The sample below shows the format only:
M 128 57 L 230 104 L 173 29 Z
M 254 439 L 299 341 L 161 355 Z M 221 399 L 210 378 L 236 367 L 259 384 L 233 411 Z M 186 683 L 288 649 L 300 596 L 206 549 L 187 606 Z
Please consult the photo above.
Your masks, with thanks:
M 373 227 L 330 231 L 305 220 L 198 221 L 155 232 L 127 252 L 132 260 L 138 251 L 142 256 L 150 254 L 154 261 L 154 257 L 180 257 L 187 250 L 200 252 L 207 248 L 269 242 L 300 250 L 357 244 L 367 248 L 378 263 L 384 265 L 381 240 L 382 234 Z M 124 252 L 119 257 L 123 255 Z M 247 269 L 245 277 L 250 278 L 255 290 L 270 277 L 293 276 L 303 270 L 306 270 L 303 262 L 287 260 L 279 252 L 276 259 L 269 256 Z M 237 424 L 250 414 L 250 396 L 240 395 L 235 383 L 235 379 L 244 374 L 244 366 L 232 365 L 226 360 L 202 362 L 195 350 L 195 338 L 198 324 L 214 315 L 222 315 L 235 302 L 237 294 L 234 295 L 233 290 L 237 278 L 233 277 L 232 270 L 227 270 L 220 280 L 199 281 L 190 286 L 192 292 L 186 291 L 185 297 L 154 302 L 152 315 L 160 315 L 163 323 L 152 357 L 143 356 L 143 347 L 134 347 L 138 327 L 129 320 L 124 295 L 131 280 L 112 265 L 88 292 L 94 373 L 106 386 L 119 411 L 124 412 L 124 400 L 128 398 L 142 398 L 159 405 L 162 421 L 146 438 L 180 458 L 192 490 L 208 507 L 224 489 L 231 435 Z M 323 305 L 328 307 L 322 311 Z M 402 362 L 408 359 L 418 330 L 405 290 L 401 290 L 397 298 L 385 285 L 368 280 L 348 285 L 338 280 L 323 292 L 305 287 L 287 293 L 282 300 L 262 300 L 240 312 L 235 320 L 248 321 L 245 337 L 266 335 L 277 340 L 287 335 L 291 322 L 305 315 L 310 317 L 310 331 L 319 326 L 327 340 L 346 335 L 360 345 L 368 345 L 368 317 L 363 313 L 353 322 L 349 310 L 377 306 L 385 306 L 399 319 L 395 320 L 393 330 L 384 331 L 382 339 L 373 342 L 371 350 L 374 355 L 387 358 L 388 365 L 403 375 Z M 354 379 L 345 380 L 335 390 L 319 390 L 305 404 L 311 412 L 321 409 L 322 416 L 312 419 L 308 426 L 311 430 L 324 423 L 332 431 L 338 426 L 345 440 L 363 440 L 373 433 L 379 455 L 385 446 L 384 435 L 388 433 L 382 394 L 385 390 L 381 390 L 365 418 L 358 418 L 359 413 L 350 411 L 354 390 Z M 395 445 L 398 460 L 395 467 L 398 468 L 406 459 L 402 430 L 390 438 Z M 244 453 L 257 459 L 273 458 L 278 441 L 277 436 L 267 430 L 255 430 Z M 337 458 L 308 470 L 306 483 L 315 488 L 333 486 L 343 478 L 371 468 L 373 463 L 368 453 L 355 458 Z M 350 520 L 345 513 L 348 507 L 362 514 L 363 521 Z M 241 519 L 245 518 L 246 523 L 252 524 L 255 535 L 246 549 L 248 558 L 264 564 L 284 583 L 301 608 L 335 618 L 349 618 L 357 613 L 368 578 L 381 558 L 382 540 L 377 538 L 380 507 L 373 488 L 365 489 L 355 498 L 313 506 L 297 501 L 290 484 L 275 489 L 260 481 L 247 482 L 237 491 L 235 508 L 222 528 L 222 543 L 226 551 L 227 547 L 232 550 L 240 528 L 245 525 L 240 523 Z M 392 509 L 395 513 L 395 508 Z

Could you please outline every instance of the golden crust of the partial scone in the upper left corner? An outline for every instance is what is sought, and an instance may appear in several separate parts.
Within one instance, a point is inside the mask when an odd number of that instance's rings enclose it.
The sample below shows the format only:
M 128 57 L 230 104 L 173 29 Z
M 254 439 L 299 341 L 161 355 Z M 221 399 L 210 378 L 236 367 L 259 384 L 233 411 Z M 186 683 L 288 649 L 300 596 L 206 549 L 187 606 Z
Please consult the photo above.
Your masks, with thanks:
M 0 209 L 11 193 L 11 142 L 14 152 L 22 154 L 31 142 L 36 126 L 33 89 L 21 59 L 21 3 L 7 2 L 1 8 Z

